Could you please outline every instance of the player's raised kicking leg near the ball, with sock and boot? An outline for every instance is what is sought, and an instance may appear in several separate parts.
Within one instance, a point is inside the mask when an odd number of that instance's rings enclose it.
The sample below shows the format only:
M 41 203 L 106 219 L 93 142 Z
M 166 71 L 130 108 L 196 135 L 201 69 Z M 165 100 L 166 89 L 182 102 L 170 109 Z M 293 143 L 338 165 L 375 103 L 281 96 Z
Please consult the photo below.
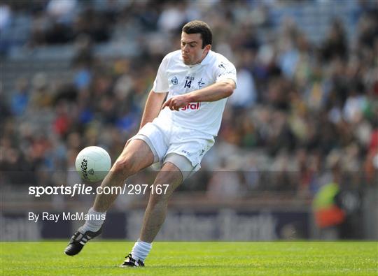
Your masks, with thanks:
M 153 164 L 153 159 L 153 152 L 144 140 L 131 140 L 104 178 L 101 187 L 122 187 L 127 177 Z M 118 194 L 98 194 L 96 196 L 93 207 L 87 213 L 90 219 L 78 228 L 64 250 L 67 255 L 78 254 L 85 242 L 101 233 L 106 211 L 111 207 L 117 196 Z

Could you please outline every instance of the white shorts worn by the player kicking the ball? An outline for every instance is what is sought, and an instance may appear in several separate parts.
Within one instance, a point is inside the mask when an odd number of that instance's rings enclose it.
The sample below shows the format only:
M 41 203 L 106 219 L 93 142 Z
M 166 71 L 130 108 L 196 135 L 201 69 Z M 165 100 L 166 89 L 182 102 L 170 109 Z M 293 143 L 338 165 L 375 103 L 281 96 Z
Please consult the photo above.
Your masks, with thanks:
M 154 155 L 153 168 L 166 162 L 177 166 L 183 179 L 201 168 L 204 154 L 214 145 L 214 136 L 193 129 L 185 129 L 158 118 L 144 125 L 132 140 L 144 140 Z M 184 157 L 184 158 L 183 158 Z

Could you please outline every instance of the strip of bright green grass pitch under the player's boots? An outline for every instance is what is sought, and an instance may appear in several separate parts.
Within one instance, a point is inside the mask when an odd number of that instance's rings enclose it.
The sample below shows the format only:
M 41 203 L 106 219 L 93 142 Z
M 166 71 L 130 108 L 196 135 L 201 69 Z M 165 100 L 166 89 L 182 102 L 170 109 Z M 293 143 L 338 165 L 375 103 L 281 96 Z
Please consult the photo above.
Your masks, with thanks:
M 134 242 L 1 242 L 1 275 L 378 275 L 378 242 L 154 242 L 145 268 L 118 268 Z

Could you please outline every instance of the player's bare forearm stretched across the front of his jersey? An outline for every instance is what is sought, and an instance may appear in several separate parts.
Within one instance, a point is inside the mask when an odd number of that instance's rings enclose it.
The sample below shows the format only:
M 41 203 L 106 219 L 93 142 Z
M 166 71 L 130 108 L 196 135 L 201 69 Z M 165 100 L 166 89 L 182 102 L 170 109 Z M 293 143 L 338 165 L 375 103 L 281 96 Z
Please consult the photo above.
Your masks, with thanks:
M 171 110 L 179 111 L 180 108 L 188 103 L 197 103 L 201 101 L 218 101 L 231 96 L 236 88 L 235 82 L 231 79 L 222 80 L 209 85 L 203 89 L 195 90 L 188 94 L 174 96 L 167 100 L 162 108 L 168 106 Z

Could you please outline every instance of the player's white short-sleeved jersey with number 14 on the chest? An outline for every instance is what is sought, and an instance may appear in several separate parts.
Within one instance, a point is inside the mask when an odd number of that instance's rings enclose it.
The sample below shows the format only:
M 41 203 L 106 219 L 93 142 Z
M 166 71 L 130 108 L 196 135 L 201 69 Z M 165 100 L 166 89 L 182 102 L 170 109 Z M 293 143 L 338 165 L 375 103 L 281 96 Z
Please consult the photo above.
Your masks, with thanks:
M 234 80 L 236 85 L 235 66 L 223 55 L 209 51 L 200 64 L 189 66 L 183 63 L 181 50 L 177 50 L 170 52 L 162 60 L 153 83 L 153 91 L 168 92 L 167 99 L 169 99 L 225 79 Z M 189 103 L 179 111 L 164 108 L 157 119 L 216 136 L 221 126 L 226 101 L 227 98 L 212 102 Z

